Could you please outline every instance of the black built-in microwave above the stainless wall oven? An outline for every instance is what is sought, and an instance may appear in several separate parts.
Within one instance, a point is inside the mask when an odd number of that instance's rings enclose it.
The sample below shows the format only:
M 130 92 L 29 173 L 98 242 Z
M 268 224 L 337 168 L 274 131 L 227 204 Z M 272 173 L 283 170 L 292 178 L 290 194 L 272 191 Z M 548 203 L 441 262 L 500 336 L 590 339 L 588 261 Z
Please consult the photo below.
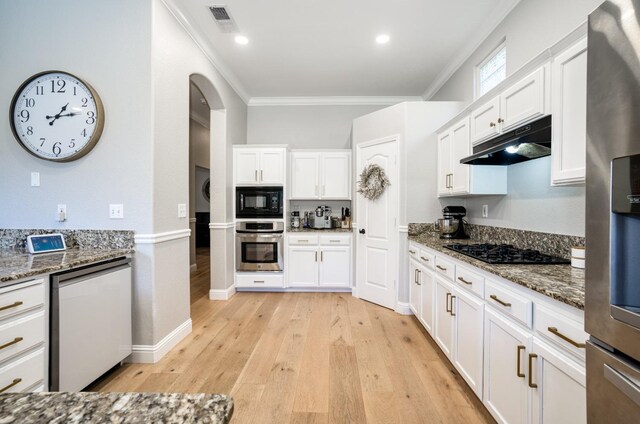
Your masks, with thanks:
M 236 218 L 283 218 L 282 187 L 237 187 Z

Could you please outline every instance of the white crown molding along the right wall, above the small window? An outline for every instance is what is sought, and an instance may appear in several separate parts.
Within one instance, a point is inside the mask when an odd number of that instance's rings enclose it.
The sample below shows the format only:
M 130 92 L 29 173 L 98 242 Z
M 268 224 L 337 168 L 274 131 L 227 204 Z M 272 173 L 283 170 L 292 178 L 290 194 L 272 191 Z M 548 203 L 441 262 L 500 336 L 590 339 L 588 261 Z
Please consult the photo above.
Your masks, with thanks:
M 503 0 L 501 6 L 499 6 L 496 13 L 492 13 L 480 26 L 473 36 L 469 37 L 472 40 L 465 47 L 460 49 L 460 53 L 453 58 L 449 65 L 447 65 L 442 72 L 433 80 L 433 83 L 424 91 L 422 98 L 424 100 L 431 100 L 431 98 L 440 90 L 447 81 L 453 76 L 453 74 L 460 69 L 462 65 L 471 57 L 471 55 L 485 42 L 485 40 L 495 31 L 495 29 L 502 23 L 502 21 L 511 13 L 511 11 L 520 3 L 520 0 Z

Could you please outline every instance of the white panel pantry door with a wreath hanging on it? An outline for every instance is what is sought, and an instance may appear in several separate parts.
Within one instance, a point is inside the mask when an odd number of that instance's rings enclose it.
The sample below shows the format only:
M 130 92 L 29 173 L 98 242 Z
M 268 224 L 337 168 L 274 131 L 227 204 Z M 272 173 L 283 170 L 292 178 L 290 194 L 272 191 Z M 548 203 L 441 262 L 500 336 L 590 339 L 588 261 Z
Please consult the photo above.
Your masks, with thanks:
M 398 142 L 387 139 L 359 144 L 357 169 L 376 164 L 385 170 L 390 186 L 376 200 L 356 198 L 357 294 L 387 308 L 395 308 L 398 270 Z

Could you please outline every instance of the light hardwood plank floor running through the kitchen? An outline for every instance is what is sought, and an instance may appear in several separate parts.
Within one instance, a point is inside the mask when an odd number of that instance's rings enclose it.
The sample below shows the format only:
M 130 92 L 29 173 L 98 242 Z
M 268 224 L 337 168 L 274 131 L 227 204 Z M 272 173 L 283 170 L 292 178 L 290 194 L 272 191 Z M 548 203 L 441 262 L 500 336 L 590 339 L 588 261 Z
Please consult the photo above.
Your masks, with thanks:
M 494 422 L 413 317 L 345 293 L 238 293 L 210 301 L 192 275 L 193 332 L 156 364 L 89 390 L 231 394 L 233 423 Z

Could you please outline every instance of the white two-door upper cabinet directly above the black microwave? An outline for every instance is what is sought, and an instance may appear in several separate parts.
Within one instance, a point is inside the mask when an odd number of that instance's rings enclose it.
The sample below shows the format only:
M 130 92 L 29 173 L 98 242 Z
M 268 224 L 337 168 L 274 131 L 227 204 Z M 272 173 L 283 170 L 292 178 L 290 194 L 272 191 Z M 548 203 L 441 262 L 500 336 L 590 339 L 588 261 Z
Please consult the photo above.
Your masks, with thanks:
M 236 147 L 233 153 L 236 185 L 284 185 L 285 148 Z

